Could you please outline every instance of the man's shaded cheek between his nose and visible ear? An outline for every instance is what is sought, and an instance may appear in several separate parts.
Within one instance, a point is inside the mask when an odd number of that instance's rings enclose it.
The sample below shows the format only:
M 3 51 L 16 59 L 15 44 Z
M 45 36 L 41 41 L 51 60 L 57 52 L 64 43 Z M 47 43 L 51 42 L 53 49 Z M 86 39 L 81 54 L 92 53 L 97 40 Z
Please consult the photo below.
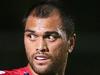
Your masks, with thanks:
M 50 53 L 53 56 L 62 57 L 67 54 L 67 46 L 62 41 L 58 41 L 56 43 L 52 43 L 49 45 Z

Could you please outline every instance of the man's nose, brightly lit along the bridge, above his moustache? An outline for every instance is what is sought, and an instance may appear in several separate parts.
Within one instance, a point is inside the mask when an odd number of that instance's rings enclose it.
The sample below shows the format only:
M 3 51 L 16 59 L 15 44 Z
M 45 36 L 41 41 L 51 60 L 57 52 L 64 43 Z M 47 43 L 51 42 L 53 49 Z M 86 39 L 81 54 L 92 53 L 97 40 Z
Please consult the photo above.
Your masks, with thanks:
M 48 52 L 49 51 L 47 47 L 47 43 L 43 38 L 39 38 L 36 51 L 38 52 Z

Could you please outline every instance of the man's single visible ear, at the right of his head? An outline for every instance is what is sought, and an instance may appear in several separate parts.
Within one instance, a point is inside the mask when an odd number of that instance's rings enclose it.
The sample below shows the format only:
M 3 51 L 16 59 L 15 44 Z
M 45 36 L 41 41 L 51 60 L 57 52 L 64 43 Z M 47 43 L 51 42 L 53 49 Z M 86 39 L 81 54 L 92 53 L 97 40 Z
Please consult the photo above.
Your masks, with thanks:
M 73 48 L 75 46 L 75 40 L 76 40 L 76 34 L 74 33 L 71 37 L 68 39 L 68 52 L 71 53 L 73 51 Z

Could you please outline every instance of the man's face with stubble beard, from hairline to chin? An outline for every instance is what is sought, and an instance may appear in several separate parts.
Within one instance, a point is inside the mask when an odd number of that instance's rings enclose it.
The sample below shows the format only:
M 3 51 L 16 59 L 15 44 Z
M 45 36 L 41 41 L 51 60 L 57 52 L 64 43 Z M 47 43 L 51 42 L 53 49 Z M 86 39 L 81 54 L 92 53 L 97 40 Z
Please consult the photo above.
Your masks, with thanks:
M 69 45 L 58 33 L 61 24 L 59 15 L 28 17 L 24 43 L 29 64 L 35 73 L 56 72 L 65 66 Z

